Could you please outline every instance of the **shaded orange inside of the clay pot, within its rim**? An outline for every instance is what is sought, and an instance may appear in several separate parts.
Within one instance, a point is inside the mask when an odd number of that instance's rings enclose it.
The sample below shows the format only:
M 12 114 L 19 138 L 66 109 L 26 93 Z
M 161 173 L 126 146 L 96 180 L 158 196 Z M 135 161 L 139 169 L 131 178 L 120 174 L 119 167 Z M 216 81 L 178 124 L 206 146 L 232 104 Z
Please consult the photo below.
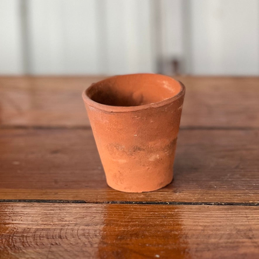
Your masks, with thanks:
M 171 77 L 158 74 L 119 75 L 92 84 L 87 96 L 110 106 L 140 106 L 171 98 L 181 85 Z

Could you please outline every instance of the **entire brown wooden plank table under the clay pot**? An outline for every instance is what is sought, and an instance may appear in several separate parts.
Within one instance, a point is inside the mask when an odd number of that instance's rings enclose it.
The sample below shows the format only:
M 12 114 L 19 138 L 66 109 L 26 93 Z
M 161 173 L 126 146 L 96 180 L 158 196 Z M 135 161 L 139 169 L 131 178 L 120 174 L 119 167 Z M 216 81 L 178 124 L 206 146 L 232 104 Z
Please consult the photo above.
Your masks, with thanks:
M 0 258 L 259 258 L 259 77 L 176 77 L 174 180 L 140 194 L 106 185 L 102 78 L 0 77 Z

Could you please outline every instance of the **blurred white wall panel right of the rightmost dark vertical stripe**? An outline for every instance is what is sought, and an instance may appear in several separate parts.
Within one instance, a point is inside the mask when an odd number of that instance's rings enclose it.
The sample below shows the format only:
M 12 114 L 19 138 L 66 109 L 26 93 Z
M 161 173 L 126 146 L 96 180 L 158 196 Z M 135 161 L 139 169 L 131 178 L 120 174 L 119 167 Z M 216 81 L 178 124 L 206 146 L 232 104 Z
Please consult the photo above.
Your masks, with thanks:
M 259 74 L 259 1 L 192 0 L 190 72 Z

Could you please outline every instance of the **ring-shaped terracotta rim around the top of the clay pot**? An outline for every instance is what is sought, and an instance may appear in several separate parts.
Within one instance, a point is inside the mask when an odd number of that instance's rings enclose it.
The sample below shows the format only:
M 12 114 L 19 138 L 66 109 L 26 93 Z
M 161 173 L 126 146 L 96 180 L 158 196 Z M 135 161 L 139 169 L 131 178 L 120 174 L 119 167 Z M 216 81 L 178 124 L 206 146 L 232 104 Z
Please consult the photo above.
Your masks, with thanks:
M 139 74 L 130 74 L 130 75 L 159 75 L 159 74 L 139 73 Z M 99 82 L 103 82 L 103 81 L 105 81 L 107 79 L 110 79 L 110 78 L 113 78 L 113 77 L 120 77 L 120 76 L 123 76 L 123 75 L 115 75 L 115 76 L 112 76 L 112 77 L 107 77 L 104 80 L 101 80 L 101 81 L 98 81 L 96 83 L 91 84 L 82 93 L 82 97 L 83 97 L 83 100 L 85 101 L 85 103 L 87 103 L 91 107 L 94 107 L 94 108 L 99 109 L 99 110 L 107 111 L 107 112 L 132 112 L 132 111 L 145 110 L 145 109 L 149 109 L 149 108 L 157 108 L 157 107 L 164 106 L 166 104 L 172 103 L 173 101 L 179 99 L 180 97 L 182 97 L 185 94 L 184 84 L 182 82 L 180 82 L 178 80 L 175 80 L 174 78 L 170 77 L 170 79 L 173 79 L 180 84 L 180 86 L 181 86 L 180 91 L 175 96 L 172 96 L 170 98 L 167 98 L 167 99 L 164 99 L 162 101 L 155 102 L 155 103 L 148 103 L 148 104 L 138 105 L 138 106 L 111 106 L 111 105 L 106 105 L 106 104 L 102 104 L 102 103 L 98 103 L 96 101 L 93 101 L 87 95 L 90 88 L 93 87 L 95 84 L 97 84 Z M 163 75 L 163 76 L 166 76 L 166 75 Z M 167 76 L 167 77 L 169 77 L 169 76 Z

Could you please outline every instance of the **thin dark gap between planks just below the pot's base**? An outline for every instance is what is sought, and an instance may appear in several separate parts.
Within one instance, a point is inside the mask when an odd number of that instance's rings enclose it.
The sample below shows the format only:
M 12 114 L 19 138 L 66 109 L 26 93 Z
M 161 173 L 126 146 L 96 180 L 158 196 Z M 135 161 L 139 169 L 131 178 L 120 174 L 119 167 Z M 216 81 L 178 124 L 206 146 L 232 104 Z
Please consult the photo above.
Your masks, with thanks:
M 216 205 L 216 206 L 259 206 L 259 203 L 248 202 L 184 202 L 184 201 L 103 201 L 84 200 L 22 200 L 0 199 L 0 202 L 38 202 L 38 203 L 92 203 L 92 204 L 148 204 L 148 205 Z

